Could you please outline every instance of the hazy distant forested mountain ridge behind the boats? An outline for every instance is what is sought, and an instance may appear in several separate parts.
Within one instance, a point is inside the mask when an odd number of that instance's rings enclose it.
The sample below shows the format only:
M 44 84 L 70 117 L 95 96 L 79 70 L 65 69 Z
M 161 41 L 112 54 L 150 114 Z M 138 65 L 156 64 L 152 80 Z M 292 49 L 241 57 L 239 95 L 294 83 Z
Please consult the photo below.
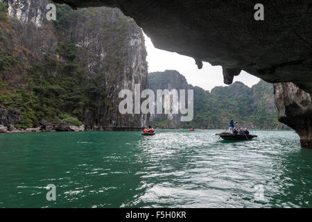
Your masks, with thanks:
M 211 92 L 189 85 L 186 78 L 175 70 L 153 72 L 148 75 L 149 88 L 193 89 L 194 117 L 191 122 L 179 122 L 178 115 L 154 115 L 151 123 L 158 128 L 227 128 L 229 120 L 238 121 L 239 127 L 254 129 L 288 129 L 279 123 L 273 86 L 261 80 L 248 87 L 241 82 L 226 87 L 214 87 Z

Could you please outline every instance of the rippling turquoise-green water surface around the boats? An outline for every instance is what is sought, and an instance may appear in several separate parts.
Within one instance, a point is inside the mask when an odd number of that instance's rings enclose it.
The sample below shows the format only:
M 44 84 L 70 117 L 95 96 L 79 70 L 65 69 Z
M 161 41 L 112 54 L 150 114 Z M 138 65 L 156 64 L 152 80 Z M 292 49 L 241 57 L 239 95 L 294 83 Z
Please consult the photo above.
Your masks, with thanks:
M 1 134 L 0 207 L 311 207 L 312 150 L 293 131 L 220 132 Z

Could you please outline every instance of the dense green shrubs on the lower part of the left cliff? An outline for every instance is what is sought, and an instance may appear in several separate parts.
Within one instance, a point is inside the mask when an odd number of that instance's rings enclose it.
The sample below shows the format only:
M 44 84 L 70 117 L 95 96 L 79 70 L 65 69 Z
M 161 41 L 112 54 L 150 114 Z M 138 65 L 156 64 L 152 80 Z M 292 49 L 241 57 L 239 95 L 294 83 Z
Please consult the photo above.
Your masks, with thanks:
M 53 73 L 53 69 L 58 71 Z M 30 67 L 23 78 L 25 84 L 21 89 L 3 83 L 0 91 L 0 103 L 21 109 L 18 127 L 39 126 L 40 119 L 55 122 L 82 117 L 87 89 L 83 72 L 76 65 L 46 58 L 45 62 Z M 66 118 L 62 118 L 63 112 L 67 113 Z M 81 122 L 77 119 L 76 123 Z

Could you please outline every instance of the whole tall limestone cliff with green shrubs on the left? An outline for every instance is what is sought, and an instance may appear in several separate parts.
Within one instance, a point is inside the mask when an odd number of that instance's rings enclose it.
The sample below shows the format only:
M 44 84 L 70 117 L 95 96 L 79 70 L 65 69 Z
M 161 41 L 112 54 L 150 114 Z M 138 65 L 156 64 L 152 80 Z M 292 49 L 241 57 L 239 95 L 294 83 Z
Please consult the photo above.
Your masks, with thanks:
M 118 110 L 121 89 L 148 87 L 144 36 L 133 19 L 116 8 L 57 5 L 56 21 L 48 21 L 51 1 L 0 3 L 0 124 L 32 128 L 45 119 L 87 130 L 146 126 L 146 115 Z M 4 121 L 14 108 L 19 123 Z

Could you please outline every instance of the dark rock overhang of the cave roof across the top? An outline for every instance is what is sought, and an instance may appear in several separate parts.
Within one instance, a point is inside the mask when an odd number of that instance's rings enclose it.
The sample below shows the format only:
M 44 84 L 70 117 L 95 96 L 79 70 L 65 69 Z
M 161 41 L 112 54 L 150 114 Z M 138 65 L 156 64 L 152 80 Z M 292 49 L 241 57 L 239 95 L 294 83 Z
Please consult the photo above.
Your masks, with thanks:
M 155 47 L 223 67 L 225 83 L 241 70 L 270 83 L 293 82 L 312 93 L 312 1 L 54 0 L 72 8 L 120 8 Z M 195 64 L 194 64 L 195 65 Z

